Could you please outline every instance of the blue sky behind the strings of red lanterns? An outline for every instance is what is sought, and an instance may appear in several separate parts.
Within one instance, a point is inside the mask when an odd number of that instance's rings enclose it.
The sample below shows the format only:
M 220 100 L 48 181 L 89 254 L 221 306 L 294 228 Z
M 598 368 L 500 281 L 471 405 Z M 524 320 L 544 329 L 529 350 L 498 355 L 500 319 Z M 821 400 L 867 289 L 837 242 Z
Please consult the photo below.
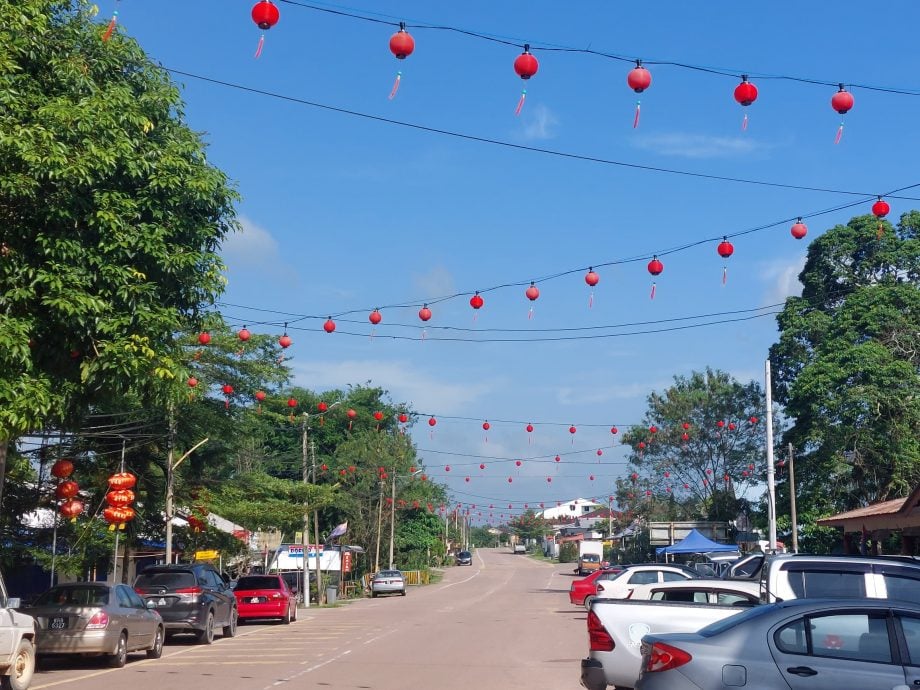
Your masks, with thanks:
M 288 3 L 278 3 L 281 20 L 267 32 L 261 58 L 253 59 L 260 32 L 249 17 L 251 4 L 124 0 L 121 30 L 174 70 L 516 145 L 869 194 L 920 181 L 909 148 L 916 141 L 915 96 L 854 87 L 856 104 L 835 146 L 841 118 L 830 108 L 833 87 L 753 77 L 760 97 L 746 109 L 750 123 L 741 131 L 743 109 L 732 98 L 737 76 L 650 65 L 652 86 L 633 129 L 630 65 L 536 47 L 590 47 L 736 75 L 915 90 L 916 3 L 887 3 L 883 15 L 852 1 L 316 5 L 405 20 L 416 40 L 405 61 L 388 50 L 391 26 Z M 111 9 L 100 4 L 100 16 Z M 512 69 L 520 48 L 413 24 L 532 43 L 540 71 L 526 84 L 521 116 L 514 107 L 522 82 Z M 391 101 L 397 70 L 401 88 Z M 176 79 L 184 85 L 189 124 L 203 132 L 210 160 L 243 198 L 244 232 L 224 247 L 223 301 L 238 306 L 224 307 L 225 314 L 238 325 L 278 333 L 279 325 L 260 324 L 280 324 L 282 312 L 317 317 L 289 329 L 297 384 L 324 390 L 370 381 L 394 401 L 437 415 L 433 432 L 424 420 L 413 432 L 421 454 L 457 500 L 479 509 L 605 496 L 626 456 L 619 445 L 609 448 L 611 425 L 641 422 L 646 396 L 675 375 L 711 366 L 760 380 L 776 338 L 772 316 L 556 342 L 535 341 L 562 334 L 541 329 L 652 322 L 626 329 L 648 330 L 665 319 L 781 302 L 799 289 L 808 241 L 871 206 L 866 201 L 808 220 L 801 242 L 790 237 L 789 223 L 733 239 L 724 286 L 718 240 L 663 257 L 651 300 L 645 264 L 653 253 L 860 197 L 566 159 Z M 890 201 L 893 218 L 916 204 Z M 597 269 L 601 281 L 589 308 L 586 267 L 634 257 L 646 258 Z M 526 282 L 573 269 L 539 283 L 529 318 Z M 421 303 L 508 283 L 515 286 L 483 294 L 486 305 L 475 321 L 469 296 L 432 305 L 422 338 Z M 369 337 L 368 312 L 395 304 L 416 306 L 382 309 L 383 324 Z M 322 330 L 330 314 L 343 315 L 332 335 Z M 445 326 L 476 331 L 438 329 Z M 519 341 L 438 341 L 446 336 Z M 488 443 L 485 419 L 492 426 Z M 532 435 L 523 428 L 528 421 L 536 426 Z M 574 436 L 569 424 L 579 427 Z M 603 456 L 598 448 L 605 448 Z M 563 462 L 552 461 L 556 453 L 567 453 Z M 549 457 L 527 459 L 536 456 Z M 525 459 L 522 467 L 514 458 Z

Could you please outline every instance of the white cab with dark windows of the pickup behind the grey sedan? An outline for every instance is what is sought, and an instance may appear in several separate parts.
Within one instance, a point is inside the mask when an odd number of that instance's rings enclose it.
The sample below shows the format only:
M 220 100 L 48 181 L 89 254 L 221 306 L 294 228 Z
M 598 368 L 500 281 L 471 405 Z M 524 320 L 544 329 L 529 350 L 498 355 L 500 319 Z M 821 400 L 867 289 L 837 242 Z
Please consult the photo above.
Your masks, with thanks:
M 767 556 L 760 600 L 869 598 L 920 604 L 920 560 L 909 556 Z

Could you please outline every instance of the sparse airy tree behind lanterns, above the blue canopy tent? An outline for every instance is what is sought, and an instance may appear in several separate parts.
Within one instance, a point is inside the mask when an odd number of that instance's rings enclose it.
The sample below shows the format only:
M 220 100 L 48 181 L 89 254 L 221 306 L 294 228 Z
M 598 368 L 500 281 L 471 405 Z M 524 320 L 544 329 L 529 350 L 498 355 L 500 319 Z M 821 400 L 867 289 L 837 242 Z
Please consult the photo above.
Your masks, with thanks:
M 652 519 L 732 519 L 735 497 L 763 477 L 764 395 L 707 369 L 675 376 L 648 396 L 642 426 L 623 434 L 629 477 L 618 482 L 621 506 Z

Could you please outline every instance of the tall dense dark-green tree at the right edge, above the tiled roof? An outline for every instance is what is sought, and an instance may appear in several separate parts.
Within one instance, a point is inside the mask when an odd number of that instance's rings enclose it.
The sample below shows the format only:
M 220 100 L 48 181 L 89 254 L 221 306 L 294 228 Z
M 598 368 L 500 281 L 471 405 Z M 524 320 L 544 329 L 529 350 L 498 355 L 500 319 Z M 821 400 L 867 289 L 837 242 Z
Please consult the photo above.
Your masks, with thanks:
M 809 245 L 770 350 L 800 505 L 821 514 L 920 481 L 920 213 L 877 228 L 859 216 Z

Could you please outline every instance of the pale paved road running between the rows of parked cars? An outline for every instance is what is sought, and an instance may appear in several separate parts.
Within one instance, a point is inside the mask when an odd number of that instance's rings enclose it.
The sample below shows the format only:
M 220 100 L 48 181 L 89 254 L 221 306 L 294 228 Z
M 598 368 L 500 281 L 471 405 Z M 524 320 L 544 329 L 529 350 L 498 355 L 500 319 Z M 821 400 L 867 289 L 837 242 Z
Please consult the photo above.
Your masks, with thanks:
M 574 689 L 587 633 L 584 609 L 568 601 L 571 581 L 571 566 L 480 549 L 473 567 L 405 597 L 301 609 L 290 626 L 242 626 L 209 647 L 177 638 L 161 659 L 132 655 L 123 669 L 53 662 L 32 688 Z

